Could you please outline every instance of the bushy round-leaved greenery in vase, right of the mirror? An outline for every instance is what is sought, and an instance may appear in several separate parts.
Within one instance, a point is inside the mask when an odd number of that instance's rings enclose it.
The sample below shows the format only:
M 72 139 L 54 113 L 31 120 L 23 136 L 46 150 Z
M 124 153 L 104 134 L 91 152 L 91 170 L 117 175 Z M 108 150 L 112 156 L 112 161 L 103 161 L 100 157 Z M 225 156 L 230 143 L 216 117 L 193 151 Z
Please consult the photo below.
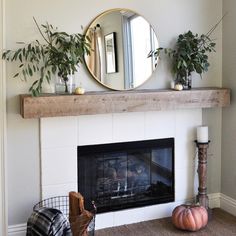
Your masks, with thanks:
M 174 49 L 157 48 L 149 53 L 149 57 L 154 56 L 155 60 L 157 60 L 163 51 L 172 59 L 171 67 L 175 76 L 175 84 L 181 85 L 176 86 L 178 90 L 182 88 L 191 89 L 191 74 L 193 72 L 202 76 L 204 72 L 208 71 L 210 66 L 208 54 L 215 52 L 216 46 L 210 35 L 222 19 L 207 34 L 193 34 L 189 30 L 187 33 L 178 36 Z

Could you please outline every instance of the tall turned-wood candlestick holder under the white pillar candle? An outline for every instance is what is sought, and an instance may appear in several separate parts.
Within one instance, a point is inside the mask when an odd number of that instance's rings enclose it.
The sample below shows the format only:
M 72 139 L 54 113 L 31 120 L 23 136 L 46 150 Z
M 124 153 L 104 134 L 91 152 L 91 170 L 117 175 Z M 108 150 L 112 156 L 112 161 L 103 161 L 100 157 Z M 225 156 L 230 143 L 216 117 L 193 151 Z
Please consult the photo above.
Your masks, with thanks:
M 207 148 L 209 147 L 210 141 L 207 143 L 199 143 L 195 141 L 198 148 L 198 195 L 197 202 L 209 213 L 209 200 L 207 196 Z

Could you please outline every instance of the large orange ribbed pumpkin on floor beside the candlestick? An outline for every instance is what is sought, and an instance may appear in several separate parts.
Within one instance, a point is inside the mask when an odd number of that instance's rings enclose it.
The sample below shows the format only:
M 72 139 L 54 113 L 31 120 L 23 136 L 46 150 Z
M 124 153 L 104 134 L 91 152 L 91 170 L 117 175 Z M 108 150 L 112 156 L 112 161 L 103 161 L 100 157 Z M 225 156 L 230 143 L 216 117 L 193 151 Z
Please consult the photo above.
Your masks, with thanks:
M 173 224 L 183 230 L 197 231 L 207 225 L 207 210 L 198 205 L 180 205 L 172 212 Z

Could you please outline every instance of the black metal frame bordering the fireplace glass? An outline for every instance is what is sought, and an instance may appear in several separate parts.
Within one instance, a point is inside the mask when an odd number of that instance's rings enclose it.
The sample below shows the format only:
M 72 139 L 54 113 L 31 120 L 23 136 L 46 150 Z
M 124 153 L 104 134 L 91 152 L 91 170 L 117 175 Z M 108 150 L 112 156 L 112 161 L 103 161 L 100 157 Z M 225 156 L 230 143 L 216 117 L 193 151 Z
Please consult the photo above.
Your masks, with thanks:
M 107 207 L 99 207 L 97 206 L 97 212 L 109 212 L 109 211 L 117 211 L 122 209 L 129 209 L 129 208 L 136 208 L 142 206 L 149 206 L 155 204 L 162 204 L 168 202 L 175 201 L 175 140 L 174 138 L 165 138 L 165 139 L 152 139 L 152 140 L 144 140 L 144 141 L 132 141 L 132 142 L 124 142 L 124 143 L 108 143 L 108 144 L 95 144 L 95 145 L 85 145 L 85 146 L 78 146 L 77 148 L 77 170 L 78 170 L 78 191 L 80 192 L 80 181 L 82 180 L 83 176 L 79 173 L 79 165 L 80 165 L 80 158 L 81 155 L 88 155 L 91 153 L 91 149 L 93 150 L 93 154 L 100 154 L 105 152 L 114 152 L 114 151 L 122 151 L 124 149 L 132 150 L 139 148 L 172 148 L 172 174 L 171 174 L 171 182 L 172 182 L 172 189 L 171 189 L 171 196 L 165 198 L 156 198 L 151 200 L 133 202 L 132 204 L 126 203 L 125 205 L 120 206 L 110 206 Z M 89 158 L 89 157 L 88 157 Z M 82 193 L 83 194 L 83 193 Z M 91 202 L 94 199 L 86 199 L 86 202 Z

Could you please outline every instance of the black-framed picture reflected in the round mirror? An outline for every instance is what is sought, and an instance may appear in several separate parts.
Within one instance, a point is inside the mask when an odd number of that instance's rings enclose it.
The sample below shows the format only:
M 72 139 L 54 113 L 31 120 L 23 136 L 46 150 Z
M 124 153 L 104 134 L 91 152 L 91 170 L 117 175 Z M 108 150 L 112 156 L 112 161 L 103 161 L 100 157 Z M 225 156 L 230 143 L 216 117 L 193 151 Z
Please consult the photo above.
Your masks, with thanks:
M 117 71 L 117 51 L 116 51 L 116 33 L 112 32 L 105 35 L 105 57 L 106 73 L 116 73 Z

